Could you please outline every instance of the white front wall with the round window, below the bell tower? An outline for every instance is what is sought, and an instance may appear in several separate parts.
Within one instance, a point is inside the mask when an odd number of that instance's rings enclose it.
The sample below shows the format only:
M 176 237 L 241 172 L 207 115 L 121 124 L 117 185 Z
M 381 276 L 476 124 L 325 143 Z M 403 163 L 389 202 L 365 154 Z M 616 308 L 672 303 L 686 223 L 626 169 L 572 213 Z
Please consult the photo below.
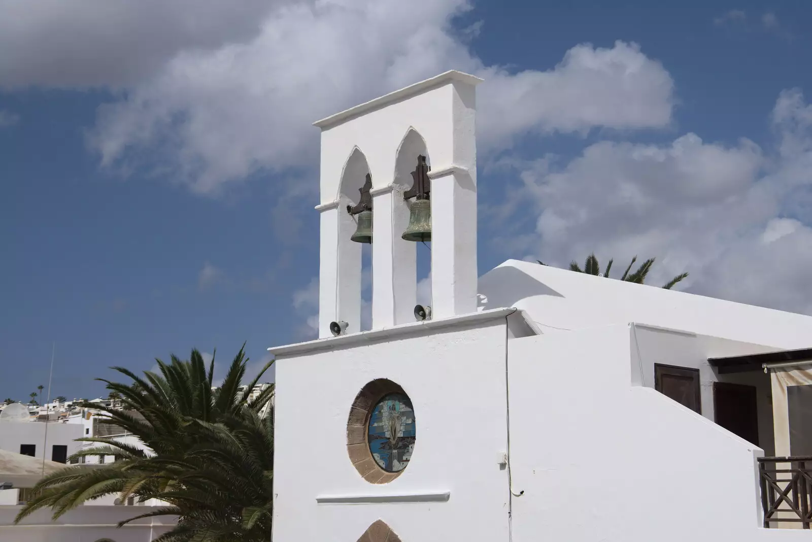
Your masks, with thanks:
M 504 318 L 382 340 L 298 358 L 277 355 L 274 542 L 358 540 L 378 519 L 404 542 L 508 540 L 507 475 L 497 462 L 506 438 Z M 381 485 L 358 475 L 346 447 L 352 402 L 376 378 L 403 387 L 417 422 L 408 467 Z M 450 498 L 316 501 L 427 492 L 450 492 Z

